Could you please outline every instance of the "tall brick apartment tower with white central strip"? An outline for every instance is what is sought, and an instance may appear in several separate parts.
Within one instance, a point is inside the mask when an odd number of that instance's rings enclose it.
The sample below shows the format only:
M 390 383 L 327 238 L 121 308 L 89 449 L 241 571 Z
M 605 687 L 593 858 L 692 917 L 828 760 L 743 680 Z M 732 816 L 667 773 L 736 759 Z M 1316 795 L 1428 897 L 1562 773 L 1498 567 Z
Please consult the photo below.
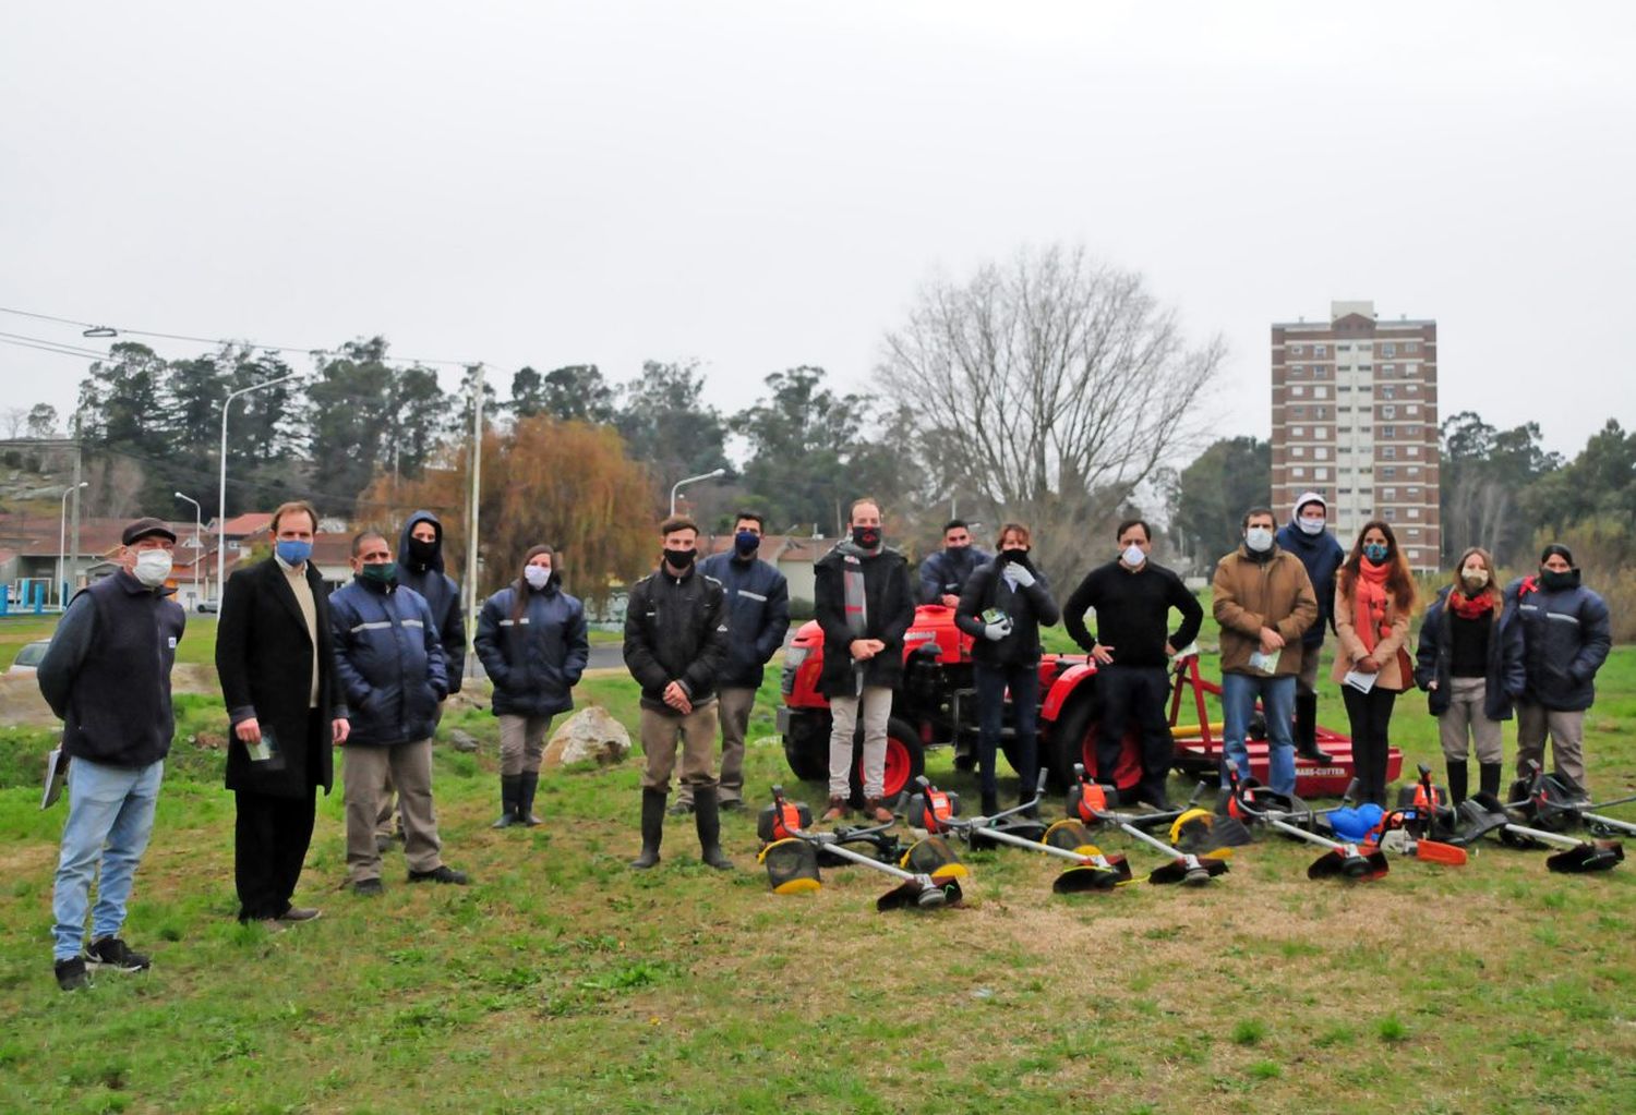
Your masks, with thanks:
M 1374 302 L 1332 302 L 1327 322 L 1273 325 L 1273 505 L 1330 500 L 1351 546 L 1369 518 L 1397 531 L 1409 564 L 1435 571 L 1438 513 L 1436 322 L 1382 322 Z

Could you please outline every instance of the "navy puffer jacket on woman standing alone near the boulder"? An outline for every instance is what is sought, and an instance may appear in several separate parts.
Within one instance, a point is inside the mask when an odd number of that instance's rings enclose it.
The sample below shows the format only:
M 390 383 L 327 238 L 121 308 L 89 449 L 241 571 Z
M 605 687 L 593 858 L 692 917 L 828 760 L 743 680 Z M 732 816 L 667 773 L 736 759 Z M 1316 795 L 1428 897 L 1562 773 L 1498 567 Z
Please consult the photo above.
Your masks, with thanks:
M 528 589 L 524 613 L 512 620 L 517 585 L 483 603 L 473 643 L 494 682 L 496 716 L 556 716 L 574 706 L 571 690 L 591 660 L 586 608 L 561 590 L 553 572 L 545 589 Z

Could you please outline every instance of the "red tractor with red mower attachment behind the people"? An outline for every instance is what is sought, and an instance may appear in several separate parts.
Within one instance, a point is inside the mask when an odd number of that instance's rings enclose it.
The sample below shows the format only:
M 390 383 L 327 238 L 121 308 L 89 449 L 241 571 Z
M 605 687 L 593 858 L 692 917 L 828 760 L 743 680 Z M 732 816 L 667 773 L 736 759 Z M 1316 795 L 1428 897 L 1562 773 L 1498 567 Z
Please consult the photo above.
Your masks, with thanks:
M 823 629 L 808 621 L 795 633 L 784 652 L 784 705 L 779 708 L 779 732 L 784 755 L 797 778 L 826 781 L 829 777 L 829 701 L 818 692 L 823 667 Z M 1222 757 L 1222 724 L 1211 723 L 1206 695 L 1220 695 L 1220 687 L 1199 674 L 1198 654 L 1186 654 L 1171 667 L 1170 726 L 1175 737 L 1175 768 L 1191 778 L 1216 778 Z M 1119 790 L 1132 790 L 1140 780 L 1140 747 L 1126 736 L 1119 767 L 1112 777 L 1096 770 L 1096 664 L 1083 654 L 1045 654 L 1039 662 L 1039 759 L 1058 786 L 1073 785 L 1073 765 Z M 1183 703 L 1193 723 L 1178 718 Z M 1011 754 L 1011 728 L 1001 737 L 1006 759 Z M 861 747 L 859 734 L 854 747 Z M 903 638 L 903 685 L 892 703 L 887 724 L 885 796 L 895 798 L 916 775 L 926 770 L 928 747 L 954 747 L 960 768 L 977 763 L 977 685 L 972 678 L 972 639 L 954 626 L 954 610 L 921 605 L 915 625 Z M 1351 781 L 1351 739 L 1319 728 L 1319 747 L 1332 762 L 1296 760 L 1296 795 L 1301 798 L 1340 796 Z M 1250 729 L 1250 770 L 1263 785 L 1268 781 L 1266 732 L 1260 718 Z M 852 796 L 861 801 L 861 757 L 854 750 Z M 1402 772 L 1402 755 L 1394 747 L 1387 759 L 1387 780 Z

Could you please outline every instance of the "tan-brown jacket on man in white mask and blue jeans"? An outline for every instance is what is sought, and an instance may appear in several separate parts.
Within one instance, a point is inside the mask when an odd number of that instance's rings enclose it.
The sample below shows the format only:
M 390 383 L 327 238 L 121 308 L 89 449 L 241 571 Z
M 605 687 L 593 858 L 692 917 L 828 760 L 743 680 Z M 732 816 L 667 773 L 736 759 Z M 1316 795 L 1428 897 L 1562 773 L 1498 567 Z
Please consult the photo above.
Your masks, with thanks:
M 1222 674 L 1252 674 L 1250 654 L 1261 646 L 1261 628 L 1273 628 L 1296 652 L 1278 659 L 1278 677 L 1301 669 L 1301 634 L 1317 623 L 1319 598 L 1301 559 L 1273 549 L 1265 562 L 1240 546 L 1216 562 L 1211 610 L 1222 628 Z

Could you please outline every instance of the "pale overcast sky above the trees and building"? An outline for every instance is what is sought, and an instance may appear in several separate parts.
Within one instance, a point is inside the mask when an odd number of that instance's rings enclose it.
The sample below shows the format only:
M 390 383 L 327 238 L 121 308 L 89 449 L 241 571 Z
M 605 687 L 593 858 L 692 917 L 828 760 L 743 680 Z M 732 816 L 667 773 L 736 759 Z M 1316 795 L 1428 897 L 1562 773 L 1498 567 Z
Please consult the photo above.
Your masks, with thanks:
M 502 396 L 697 358 L 735 410 L 867 391 L 934 270 L 1062 240 L 1225 337 L 1224 435 L 1271 322 L 1368 298 L 1438 320 L 1443 415 L 1572 455 L 1636 425 L 1633 57 L 1628 2 L 8 5 L 0 306 Z M 0 409 L 85 369 L 0 343 Z

